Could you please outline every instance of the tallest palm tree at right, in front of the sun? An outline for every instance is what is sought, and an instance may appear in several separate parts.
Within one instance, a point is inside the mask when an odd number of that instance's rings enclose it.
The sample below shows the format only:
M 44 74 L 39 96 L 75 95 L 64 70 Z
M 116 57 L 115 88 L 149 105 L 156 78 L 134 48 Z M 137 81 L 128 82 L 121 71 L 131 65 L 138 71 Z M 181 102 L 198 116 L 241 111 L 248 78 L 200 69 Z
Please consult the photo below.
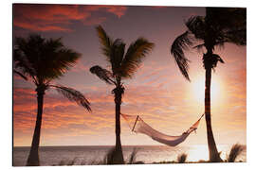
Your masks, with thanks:
M 187 30 L 178 36 L 172 46 L 171 53 L 182 75 L 190 80 L 188 69 L 189 59 L 184 50 L 191 47 L 206 50 L 203 64 L 206 70 L 205 81 L 205 117 L 210 161 L 221 161 L 213 138 L 210 120 L 210 80 L 211 70 L 218 61 L 224 63 L 217 54 L 213 54 L 216 46 L 224 46 L 226 42 L 237 45 L 246 44 L 246 8 L 206 8 L 206 16 L 192 16 L 186 21 Z

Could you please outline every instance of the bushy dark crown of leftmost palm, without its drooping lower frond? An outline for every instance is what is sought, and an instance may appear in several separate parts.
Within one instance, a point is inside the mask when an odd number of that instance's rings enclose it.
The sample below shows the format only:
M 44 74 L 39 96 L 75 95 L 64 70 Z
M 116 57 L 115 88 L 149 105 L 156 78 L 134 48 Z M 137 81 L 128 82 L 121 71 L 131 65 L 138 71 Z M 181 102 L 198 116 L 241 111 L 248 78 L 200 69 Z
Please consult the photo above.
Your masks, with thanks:
M 15 39 L 15 68 L 37 82 L 63 76 L 79 58 L 81 54 L 65 47 L 62 39 L 45 39 L 37 34 Z

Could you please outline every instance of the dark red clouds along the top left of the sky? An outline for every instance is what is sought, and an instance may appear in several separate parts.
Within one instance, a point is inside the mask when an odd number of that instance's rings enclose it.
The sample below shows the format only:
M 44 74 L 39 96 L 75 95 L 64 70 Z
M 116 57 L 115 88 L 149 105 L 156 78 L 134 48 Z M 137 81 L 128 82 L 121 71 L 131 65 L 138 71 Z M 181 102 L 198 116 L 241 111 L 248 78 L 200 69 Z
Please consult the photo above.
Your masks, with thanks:
M 69 26 L 80 21 L 86 26 L 99 25 L 105 17 L 93 12 L 112 13 L 119 18 L 125 14 L 122 6 L 79 6 L 79 5 L 14 5 L 13 23 L 32 31 L 72 31 Z

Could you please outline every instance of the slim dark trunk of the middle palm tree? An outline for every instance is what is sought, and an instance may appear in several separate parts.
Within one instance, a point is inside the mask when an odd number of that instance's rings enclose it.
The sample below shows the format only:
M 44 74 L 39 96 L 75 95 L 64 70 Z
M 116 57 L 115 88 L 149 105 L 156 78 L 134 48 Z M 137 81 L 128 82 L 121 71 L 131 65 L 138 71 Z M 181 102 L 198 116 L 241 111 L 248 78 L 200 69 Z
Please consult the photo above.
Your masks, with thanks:
M 123 164 L 123 155 L 122 148 L 120 143 L 120 105 L 121 105 L 121 95 L 122 95 L 122 87 L 118 85 L 118 87 L 114 90 L 115 92 L 115 103 L 116 103 L 116 149 L 114 154 L 114 163 Z

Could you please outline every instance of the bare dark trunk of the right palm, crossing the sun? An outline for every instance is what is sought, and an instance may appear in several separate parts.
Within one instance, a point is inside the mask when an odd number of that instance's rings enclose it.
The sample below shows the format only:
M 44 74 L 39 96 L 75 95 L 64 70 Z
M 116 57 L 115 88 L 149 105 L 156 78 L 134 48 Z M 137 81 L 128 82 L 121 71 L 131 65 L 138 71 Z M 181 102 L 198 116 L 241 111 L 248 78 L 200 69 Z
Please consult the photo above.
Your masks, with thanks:
M 206 68 L 206 89 L 205 89 L 205 117 L 207 125 L 207 139 L 209 147 L 209 158 L 210 161 L 221 161 L 213 133 L 211 128 L 210 120 L 210 81 L 211 81 L 211 68 Z

